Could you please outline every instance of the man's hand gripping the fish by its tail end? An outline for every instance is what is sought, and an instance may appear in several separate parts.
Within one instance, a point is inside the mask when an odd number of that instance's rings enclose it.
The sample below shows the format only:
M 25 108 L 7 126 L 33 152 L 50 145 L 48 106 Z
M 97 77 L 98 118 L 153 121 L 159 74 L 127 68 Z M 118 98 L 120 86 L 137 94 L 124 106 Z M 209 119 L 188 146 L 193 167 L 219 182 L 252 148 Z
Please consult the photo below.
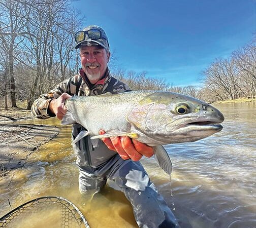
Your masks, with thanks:
M 49 104 L 49 111 L 54 113 L 59 120 L 62 120 L 63 116 L 67 112 L 65 106 L 65 100 L 71 96 L 67 93 L 62 93 L 57 99 L 52 99 Z

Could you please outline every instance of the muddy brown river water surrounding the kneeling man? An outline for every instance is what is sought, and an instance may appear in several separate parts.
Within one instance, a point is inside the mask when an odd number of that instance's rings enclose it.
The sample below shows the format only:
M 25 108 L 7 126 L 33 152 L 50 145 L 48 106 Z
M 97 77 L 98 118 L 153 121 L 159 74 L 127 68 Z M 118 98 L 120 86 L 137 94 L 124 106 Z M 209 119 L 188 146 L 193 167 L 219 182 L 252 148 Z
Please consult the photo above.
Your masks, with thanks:
M 181 227 L 256 227 L 255 103 L 215 106 L 226 117 L 221 132 L 166 146 L 174 166 L 173 196 L 168 175 L 154 159 L 142 163 Z M 59 125 L 55 119 L 29 123 Z M 129 202 L 109 184 L 93 198 L 80 196 L 70 126 L 60 127 L 58 137 L 30 156 L 25 167 L 0 181 L 0 216 L 11 210 L 8 199 L 15 208 L 37 197 L 60 196 L 73 202 L 92 228 L 137 227 Z

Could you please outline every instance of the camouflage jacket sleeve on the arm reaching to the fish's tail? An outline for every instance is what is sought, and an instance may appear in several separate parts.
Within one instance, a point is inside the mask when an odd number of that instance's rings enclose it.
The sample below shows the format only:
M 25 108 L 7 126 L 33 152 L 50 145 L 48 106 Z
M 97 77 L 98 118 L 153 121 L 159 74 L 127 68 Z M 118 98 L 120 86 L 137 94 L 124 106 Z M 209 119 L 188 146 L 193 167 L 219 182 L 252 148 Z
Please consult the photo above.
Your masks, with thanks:
M 73 96 L 75 93 L 74 91 L 76 91 L 76 81 L 78 80 L 78 77 L 79 76 L 76 75 L 70 79 L 59 83 L 49 93 L 42 94 L 38 99 L 36 99 L 31 107 L 32 116 L 39 119 L 55 117 L 55 115 L 52 115 L 48 112 L 51 100 L 53 98 L 58 98 L 62 93 L 68 93 Z

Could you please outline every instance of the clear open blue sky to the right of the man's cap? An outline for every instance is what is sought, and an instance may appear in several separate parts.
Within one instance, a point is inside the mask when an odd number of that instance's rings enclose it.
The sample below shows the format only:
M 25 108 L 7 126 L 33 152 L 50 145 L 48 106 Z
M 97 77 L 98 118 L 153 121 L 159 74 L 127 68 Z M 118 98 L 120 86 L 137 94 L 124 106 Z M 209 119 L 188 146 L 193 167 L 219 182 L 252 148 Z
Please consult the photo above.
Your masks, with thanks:
M 109 37 L 110 49 L 126 70 L 147 71 L 174 86 L 200 84 L 216 58 L 252 40 L 255 0 L 81 0 L 73 3 Z

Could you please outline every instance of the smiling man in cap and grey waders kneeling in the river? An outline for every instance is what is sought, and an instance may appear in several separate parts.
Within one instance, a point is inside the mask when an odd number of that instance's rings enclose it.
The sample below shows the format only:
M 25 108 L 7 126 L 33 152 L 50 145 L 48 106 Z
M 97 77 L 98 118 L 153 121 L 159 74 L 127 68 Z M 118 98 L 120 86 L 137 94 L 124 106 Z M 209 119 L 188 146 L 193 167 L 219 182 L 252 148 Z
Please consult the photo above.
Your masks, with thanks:
M 63 81 L 33 104 L 31 112 L 37 118 L 62 119 L 67 109 L 65 100 L 71 96 L 94 96 L 107 92 L 131 91 L 127 85 L 111 77 L 108 37 L 105 31 L 90 25 L 75 34 L 76 49 L 80 50 L 82 69 L 78 75 Z M 84 128 L 74 124 L 74 140 Z M 100 134 L 104 134 L 104 129 Z M 140 227 L 179 227 L 163 197 L 140 162 L 142 156 L 151 157 L 153 149 L 127 136 L 105 138 L 93 147 L 90 137 L 84 137 L 74 145 L 79 168 L 79 189 L 82 194 L 92 190 L 99 192 L 107 178 L 115 182 L 131 202 Z

